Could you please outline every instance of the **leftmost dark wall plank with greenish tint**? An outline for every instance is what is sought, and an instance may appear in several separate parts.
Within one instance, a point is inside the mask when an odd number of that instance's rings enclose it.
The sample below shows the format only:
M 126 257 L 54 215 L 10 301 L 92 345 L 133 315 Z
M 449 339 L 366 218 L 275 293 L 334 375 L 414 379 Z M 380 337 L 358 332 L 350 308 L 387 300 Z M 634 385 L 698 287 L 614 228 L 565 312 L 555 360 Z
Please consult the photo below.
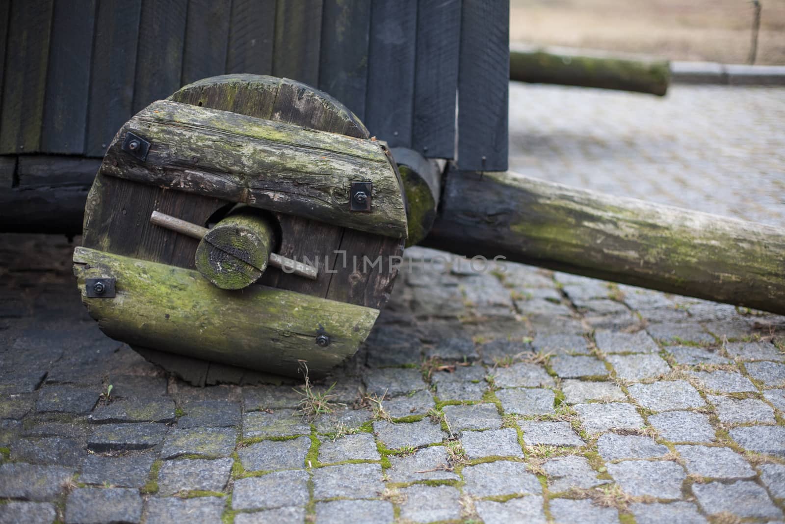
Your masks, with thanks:
M 40 149 L 53 0 L 13 0 L 9 10 L 0 155 Z

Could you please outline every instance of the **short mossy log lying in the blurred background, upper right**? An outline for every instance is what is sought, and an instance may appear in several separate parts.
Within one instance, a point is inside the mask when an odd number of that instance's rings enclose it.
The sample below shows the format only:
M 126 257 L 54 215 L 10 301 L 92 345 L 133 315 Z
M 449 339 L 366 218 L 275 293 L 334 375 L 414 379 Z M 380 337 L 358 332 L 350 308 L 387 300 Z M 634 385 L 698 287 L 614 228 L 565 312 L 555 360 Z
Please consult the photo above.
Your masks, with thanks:
M 664 96 L 670 82 L 667 60 L 559 47 L 512 46 L 509 79 L 519 82 L 598 87 Z

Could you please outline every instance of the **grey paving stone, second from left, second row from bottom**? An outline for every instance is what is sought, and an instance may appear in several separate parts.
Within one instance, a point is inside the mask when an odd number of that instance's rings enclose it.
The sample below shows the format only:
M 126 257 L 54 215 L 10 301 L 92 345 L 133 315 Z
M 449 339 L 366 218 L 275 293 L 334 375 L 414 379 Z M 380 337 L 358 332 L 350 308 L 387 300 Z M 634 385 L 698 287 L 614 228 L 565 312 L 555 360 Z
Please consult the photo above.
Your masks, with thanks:
M 154 460 L 152 453 L 129 456 L 88 455 L 82 463 L 79 482 L 108 484 L 119 488 L 141 488 L 147 482 Z

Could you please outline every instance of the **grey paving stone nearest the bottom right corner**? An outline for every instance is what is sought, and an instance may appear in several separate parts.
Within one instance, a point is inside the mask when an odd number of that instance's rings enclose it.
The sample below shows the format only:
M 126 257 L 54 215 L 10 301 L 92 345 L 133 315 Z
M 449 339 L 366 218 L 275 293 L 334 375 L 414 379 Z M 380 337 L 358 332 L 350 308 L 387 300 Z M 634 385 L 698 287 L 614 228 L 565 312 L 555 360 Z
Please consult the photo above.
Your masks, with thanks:
M 766 490 L 752 481 L 693 484 L 692 493 L 703 510 L 710 514 L 727 511 L 739 517 L 782 518 L 782 511 L 772 503 Z

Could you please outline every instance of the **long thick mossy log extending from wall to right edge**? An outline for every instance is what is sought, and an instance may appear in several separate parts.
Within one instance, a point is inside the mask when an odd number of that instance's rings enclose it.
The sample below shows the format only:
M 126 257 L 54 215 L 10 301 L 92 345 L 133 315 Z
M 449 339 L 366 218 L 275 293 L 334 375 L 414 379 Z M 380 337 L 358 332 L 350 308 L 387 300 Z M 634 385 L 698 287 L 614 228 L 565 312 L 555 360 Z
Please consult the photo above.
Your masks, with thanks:
M 785 313 L 785 231 L 524 177 L 451 170 L 423 244 Z

